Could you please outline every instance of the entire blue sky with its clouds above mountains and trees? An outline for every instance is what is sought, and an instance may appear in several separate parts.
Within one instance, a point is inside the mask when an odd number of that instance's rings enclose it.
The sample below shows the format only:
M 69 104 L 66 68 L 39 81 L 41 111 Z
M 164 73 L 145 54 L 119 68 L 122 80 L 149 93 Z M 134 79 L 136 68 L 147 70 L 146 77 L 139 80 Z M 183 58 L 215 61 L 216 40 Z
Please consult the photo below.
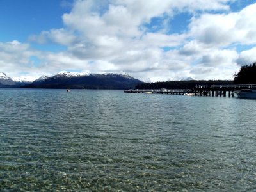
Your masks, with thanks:
M 0 72 L 233 79 L 256 62 L 256 0 L 0 0 Z

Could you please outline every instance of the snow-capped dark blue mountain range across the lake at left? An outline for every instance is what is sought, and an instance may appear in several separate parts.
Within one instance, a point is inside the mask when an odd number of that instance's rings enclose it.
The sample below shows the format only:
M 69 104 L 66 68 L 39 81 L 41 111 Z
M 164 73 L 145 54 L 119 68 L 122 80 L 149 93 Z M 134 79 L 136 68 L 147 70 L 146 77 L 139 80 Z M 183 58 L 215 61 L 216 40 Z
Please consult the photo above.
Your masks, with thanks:
M 59 72 L 54 76 L 42 76 L 35 81 L 26 77 L 10 78 L 0 72 L 0 87 L 21 88 L 88 88 L 88 89 L 130 89 L 142 81 L 124 72 L 113 74 L 88 74 L 78 72 Z

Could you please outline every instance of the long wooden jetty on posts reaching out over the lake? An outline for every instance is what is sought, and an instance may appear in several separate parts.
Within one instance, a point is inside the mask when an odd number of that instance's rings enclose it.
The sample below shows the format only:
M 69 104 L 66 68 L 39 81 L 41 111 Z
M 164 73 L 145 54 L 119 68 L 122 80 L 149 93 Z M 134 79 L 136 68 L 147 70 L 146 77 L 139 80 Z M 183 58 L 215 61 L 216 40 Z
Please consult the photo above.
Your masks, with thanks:
M 124 90 L 125 93 L 146 93 L 146 94 L 170 94 L 170 95 L 197 95 L 212 97 L 234 97 L 234 92 L 239 90 L 256 89 L 256 84 L 221 84 L 211 86 L 196 85 L 191 89 L 134 89 Z

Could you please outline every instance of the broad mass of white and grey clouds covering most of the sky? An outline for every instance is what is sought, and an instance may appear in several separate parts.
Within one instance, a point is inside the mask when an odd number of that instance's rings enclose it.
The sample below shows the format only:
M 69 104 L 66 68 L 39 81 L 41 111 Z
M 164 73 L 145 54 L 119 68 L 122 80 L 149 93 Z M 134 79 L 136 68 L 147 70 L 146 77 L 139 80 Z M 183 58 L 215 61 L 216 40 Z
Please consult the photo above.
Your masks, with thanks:
M 256 60 L 255 48 L 240 54 L 234 49 L 256 44 L 256 4 L 231 12 L 228 3 L 232 1 L 77 0 L 70 13 L 62 16 L 63 28 L 29 37 L 40 44 L 65 45 L 67 51 L 35 51 L 29 44 L 0 43 L 1 70 L 8 72 L 12 66 L 15 76 L 19 70 L 35 75 L 123 70 L 152 81 L 232 79 L 239 70 L 237 63 Z M 175 28 L 170 20 L 177 13 L 192 15 L 188 30 L 168 33 Z M 163 25 L 157 32 L 148 28 L 153 28 L 153 18 Z M 40 65 L 32 65 L 31 56 L 37 56 Z

